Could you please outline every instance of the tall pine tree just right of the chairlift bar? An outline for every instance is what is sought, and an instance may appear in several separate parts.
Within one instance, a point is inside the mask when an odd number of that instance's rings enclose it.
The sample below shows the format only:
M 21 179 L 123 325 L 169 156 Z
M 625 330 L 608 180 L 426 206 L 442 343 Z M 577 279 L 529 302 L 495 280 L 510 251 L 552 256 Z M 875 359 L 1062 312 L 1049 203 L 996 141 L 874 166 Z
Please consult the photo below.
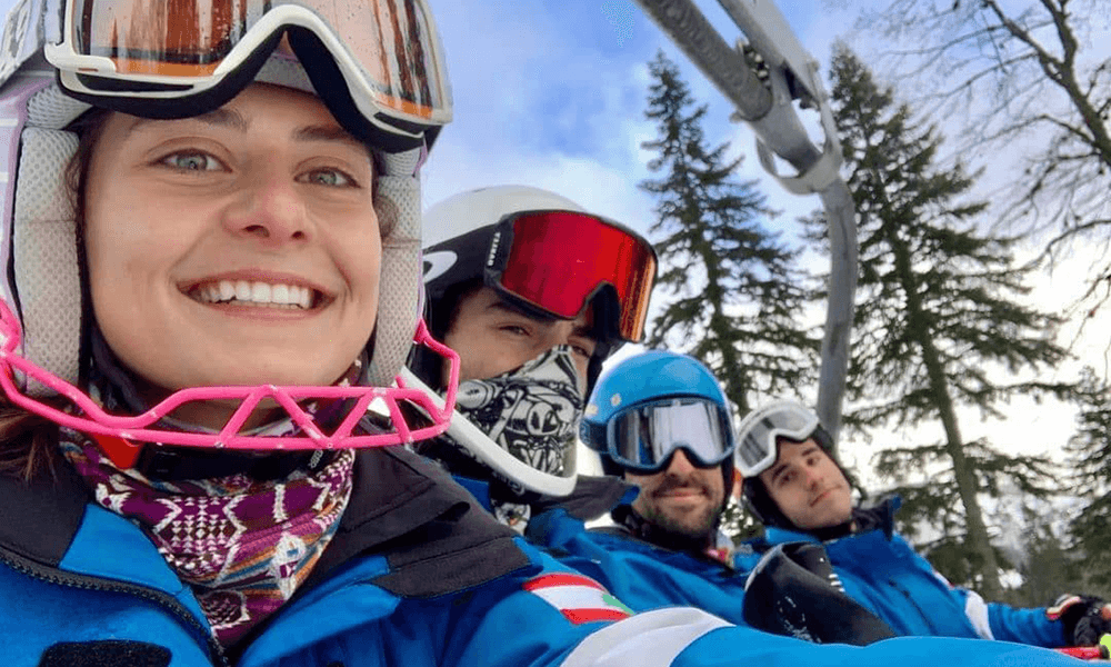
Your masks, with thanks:
M 998 599 L 999 557 L 982 500 L 1009 480 L 1023 494 L 1051 491 L 1049 461 L 1009 456 L 961 435 L 959 407 L 1001 417 L 1020 394 L 1068 395 L 1059 384 L 1022 381 L 1022 371 L 1065 357 L 1052 316 L 1021 302 L 1029 269 L 1014 265 L 1014 239 L 978 230 L 987 203 L 972 201 L 962 165 L 935 165 L 941 138 L 897 106 L 843 44 L 834 48 L 834 116 L 849 187 L 860 216 L 861 273 L 847 396 L 863 408 L 847 426 L 940 427 L 940 440 L 890 449 L 877 471 L 900 482 L 901 525 L 940 532 L 925 546 L 954 583 Z M 995 378 L 1011 376 L 1004 385 Z M 917 482 L 912 479 L 917 476 Z

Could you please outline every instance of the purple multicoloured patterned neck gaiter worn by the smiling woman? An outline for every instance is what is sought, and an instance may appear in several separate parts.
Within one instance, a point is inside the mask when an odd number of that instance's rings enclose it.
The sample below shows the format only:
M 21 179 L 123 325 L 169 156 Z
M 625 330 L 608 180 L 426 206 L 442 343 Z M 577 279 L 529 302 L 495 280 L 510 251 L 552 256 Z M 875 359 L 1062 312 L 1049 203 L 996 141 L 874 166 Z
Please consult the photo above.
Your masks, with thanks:
M 277 611 L 336 534 L 351 496 L 354 451 L 281 480 L 246 475 L 174 482 L 120 470 L 97 445 L 62 430 L 62 451 L 97 502 L 137 524 L 193 588 L 224 647 Z

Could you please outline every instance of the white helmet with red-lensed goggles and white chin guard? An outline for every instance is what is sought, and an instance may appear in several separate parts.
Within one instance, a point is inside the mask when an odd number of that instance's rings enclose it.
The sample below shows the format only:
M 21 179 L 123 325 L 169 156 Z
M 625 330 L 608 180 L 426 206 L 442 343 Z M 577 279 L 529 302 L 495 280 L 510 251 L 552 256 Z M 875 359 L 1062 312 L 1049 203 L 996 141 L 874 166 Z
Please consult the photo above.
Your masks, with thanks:
M 564 197 L 526 186 L 463 192 L 426 212 L 424 240 L 426 317 L 439 340 L 460 299 L 479 287 L 539 318 L 573 320 L 592 307 L 598 345 L 588 369 L 589 392 L 602 361 L 622 342 L 641 338 L 655 279 L 651 243 Z M 441 384 L 437 359 L 418 350 L 410 366 L 428 385 Z M 541 470 L 536 461 L 514 458 L 462 416 L 452 420 L 448 435 L 524 489 L 560 496 L 574 486 L 573 447 L 560 448 L 559 465 Z M 570 436 L 573 440 L 573 430 Z

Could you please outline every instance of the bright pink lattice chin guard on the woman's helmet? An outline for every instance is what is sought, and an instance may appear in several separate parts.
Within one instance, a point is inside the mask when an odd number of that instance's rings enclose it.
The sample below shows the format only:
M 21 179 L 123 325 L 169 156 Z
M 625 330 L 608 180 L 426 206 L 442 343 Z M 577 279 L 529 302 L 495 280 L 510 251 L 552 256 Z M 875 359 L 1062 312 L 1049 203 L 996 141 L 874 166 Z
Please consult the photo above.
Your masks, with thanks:
M 19 407 L 44 417 L 62 427 L 86 432 L 106 449 L 106 454 L 117 466 L 131 467 L 142 449 L 137 442 L 158 442 L 182 447 L 204 447 L 217 449 L 237 449 L 256 451 L 289 451 L 299 449 L 337 449 L 362 447 L 388 447 L 427 440 L 447 430 L 451 414 L 456 406 L 456 391 L 459 387 L 459 355 L 448 346 L 438 342 L 428 332 L 424 320 L 417 325 L 413 344 L 423 345 L 442 356 L 448 361 L 449 382 L 442 408 L 424 391 L 406 387 L 403 380 L 396 380 L 397 387 L 278 387 L 260 385 L 256 387 L 190 387 L 174 391 L 161 402 L 142 415 L 119 416 L 103 410 L 92 398 L 73 385 L 58 376 L 36 366 L 21 357 L 22 327 L 8 305 L 0 300 L 0 387 L 8 399 Z M 78 414 L 70 414 L 59 408 L 31 398 L 17 386 L 16 372 L 49 387 L 64 397 L 78 408 Z M 239 408 L 228 419 L 223 428 L 216 434 L 182 432 L 151 428 L 163 417 L 170 415 L 184 404 L 201 400 L 239 400 Z M 298 427 L 302 435 L 298 436 L 241 436 L 239 430 L 266 399 L 280 405 Z M 354 405 L 343 418 L 343 421 L 331 434 L 316 424 L 312 416 L 306 412 L 299 401 L 312 399 L 350 399 Z M 400 402 L 407 401 L 420 409 L 431 419 L 430 426 L 411 428 L 401 411 Z M 370 408 L 383 412 L 386 408 L 393 430 L 374 435 L 351 435 L 352 429 Z M 383 412 L 383 414 L 384 414 Z M 104 436 L 108 436 L 107 438 Z M 122 442 L 117 440 L 123 440 Z

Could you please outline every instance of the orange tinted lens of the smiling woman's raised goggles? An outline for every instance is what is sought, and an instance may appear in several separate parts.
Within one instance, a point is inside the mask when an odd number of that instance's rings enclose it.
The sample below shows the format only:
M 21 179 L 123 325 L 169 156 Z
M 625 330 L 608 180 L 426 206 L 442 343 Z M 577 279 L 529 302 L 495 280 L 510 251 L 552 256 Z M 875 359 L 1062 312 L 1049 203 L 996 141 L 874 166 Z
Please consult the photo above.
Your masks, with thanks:
M 74 0 L 74 48 L 121 73 L 204 77 L 266 13 L 311 10 L 359 63 L 377 102 L 429 118 L 444 108 L 439 43 L 423 0 Z

